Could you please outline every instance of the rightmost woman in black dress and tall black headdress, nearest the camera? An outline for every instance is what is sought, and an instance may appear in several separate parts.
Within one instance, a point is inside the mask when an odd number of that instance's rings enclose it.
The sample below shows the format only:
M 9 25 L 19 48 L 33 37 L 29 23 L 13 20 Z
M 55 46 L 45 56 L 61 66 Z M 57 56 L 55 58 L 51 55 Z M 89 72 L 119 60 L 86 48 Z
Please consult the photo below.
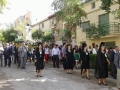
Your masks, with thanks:
M 98 84 L 103 84 L 107 86 L 106 78 L 108 77 L 108 64 L 110 64 L 110 61 L 107 58 L 106 52 L 105 52 L 105 45 L 104 43 L 101 43 L 98 53 L 97 53 L 97 66 L 98 66 L 98 72 L 99 72 L 99 79 Z

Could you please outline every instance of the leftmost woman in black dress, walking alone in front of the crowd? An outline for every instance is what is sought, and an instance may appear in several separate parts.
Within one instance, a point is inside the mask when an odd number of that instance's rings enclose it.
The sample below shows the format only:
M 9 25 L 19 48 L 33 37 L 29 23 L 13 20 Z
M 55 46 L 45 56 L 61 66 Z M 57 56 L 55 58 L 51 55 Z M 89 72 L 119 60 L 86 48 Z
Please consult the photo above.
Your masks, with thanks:
M 39 43 L 38 44 L 38 48 L 36 49 L 36 76 L 40 76 L 42 77 L 41 75 L 41 72 L 42 72 L 42 69 L 44 69 L 44 50 L 43 50 L 43 47 L 42 47 L 42 43 Z

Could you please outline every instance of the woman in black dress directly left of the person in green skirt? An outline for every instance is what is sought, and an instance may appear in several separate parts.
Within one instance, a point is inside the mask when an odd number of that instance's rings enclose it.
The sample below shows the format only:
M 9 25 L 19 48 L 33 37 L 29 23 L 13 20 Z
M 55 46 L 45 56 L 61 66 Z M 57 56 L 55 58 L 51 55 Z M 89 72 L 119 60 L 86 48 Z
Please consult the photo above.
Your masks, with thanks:
M 71 70 L 73 70 L 73 61 L 74 61 L 74 54 L 71 48 L 71 45 L 67 46 L 66 54 L 65 54 L 65 67 L 64 69 L 66 70 L 67 74 L 71 74 Z

